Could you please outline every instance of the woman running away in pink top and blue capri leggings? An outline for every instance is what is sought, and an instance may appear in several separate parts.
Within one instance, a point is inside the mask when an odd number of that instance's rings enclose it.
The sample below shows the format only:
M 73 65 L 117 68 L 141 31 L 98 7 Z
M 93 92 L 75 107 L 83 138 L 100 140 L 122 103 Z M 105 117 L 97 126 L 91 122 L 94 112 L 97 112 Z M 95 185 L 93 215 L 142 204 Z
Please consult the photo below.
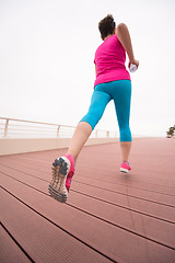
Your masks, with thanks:
M 68 198 L 74 162 L 110 100 L 114 100 L 119 125 L 122 155 L 120 172 L 128 173 L 131 170 L 128 162 L 132 141 L 129 127 L 131 80 L 125 67 L 126 53 L 129 68 L 131 65 L 138 68 L 139 61 L 135 59 L 130 34 L 124 23 L 116 27 L 113 15 L 108 14 L 98 23 L 98 30 L 103 43 L 95 53 L 96 80 L 89 112 L 78 124 L 67 153 L 52 163 L 52 180 L 48 188 L 50 195 L 62 203 Z

